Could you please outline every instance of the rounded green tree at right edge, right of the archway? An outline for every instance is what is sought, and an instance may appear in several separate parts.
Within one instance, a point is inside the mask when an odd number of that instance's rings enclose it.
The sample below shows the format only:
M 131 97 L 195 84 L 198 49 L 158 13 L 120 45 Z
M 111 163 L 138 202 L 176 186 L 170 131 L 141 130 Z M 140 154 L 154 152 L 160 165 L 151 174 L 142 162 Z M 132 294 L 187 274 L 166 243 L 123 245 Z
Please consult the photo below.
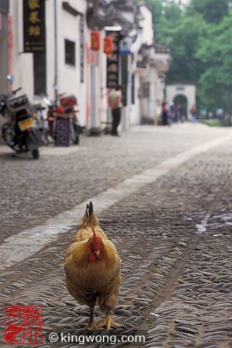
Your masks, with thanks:
M 218 26 L 211 26 L 206 37 L 200 37 L 197 59 L 204 64 L 200 75 L 199 93 L 204 103 L 221 106 L 231 112 L 232 11 Z

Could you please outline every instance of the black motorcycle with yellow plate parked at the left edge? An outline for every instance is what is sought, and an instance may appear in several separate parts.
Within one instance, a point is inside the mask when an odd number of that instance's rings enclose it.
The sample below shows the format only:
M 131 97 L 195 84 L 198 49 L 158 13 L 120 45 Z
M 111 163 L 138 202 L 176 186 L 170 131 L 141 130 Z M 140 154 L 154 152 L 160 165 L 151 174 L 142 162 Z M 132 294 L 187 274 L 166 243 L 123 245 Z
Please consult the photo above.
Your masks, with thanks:
M 39 130 L 33 116 L 28 113 L 30 102 L 26 95 L 15 97 L 21 90 L 10 91 L 7 95 L 0 95 L 0 113 L 8 117 L 9 122 L 3 124 L 2 135 L 6 144 L 17 153 L 30 151 L 33 158 L 39 158 L 39 146 L 42 145 Z

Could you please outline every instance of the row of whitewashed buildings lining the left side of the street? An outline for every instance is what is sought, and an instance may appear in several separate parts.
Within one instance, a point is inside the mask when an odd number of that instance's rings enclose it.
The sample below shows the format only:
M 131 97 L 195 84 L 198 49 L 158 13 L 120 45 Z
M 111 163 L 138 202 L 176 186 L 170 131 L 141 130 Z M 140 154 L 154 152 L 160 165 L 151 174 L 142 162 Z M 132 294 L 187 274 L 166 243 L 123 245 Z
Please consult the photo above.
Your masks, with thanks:
M 25 13 L 25 6 L 30 6 L 30 14 Z M 41 6 L 44 18 L 35 14 Z M 0 93 L 10 87 L 6 75 L 11 73 L 11 88 L 21 86 L 21 93 L 30 99 L 40 93 L 52 100 L 59 93 L 75 95 L 80 124 L 88 129 L 104 128 L 110 119 L 104 28 L 121 26 L 122 35 L 133 40 L 126 62 L 127 105 L 121 127 L 126 130 L 144 119 L 156 122 L 170 56 L 167 48 L 161 51 L 153 43 L 152 13 L 146 3 L 135 8 L 133 0 L 0 0 L 0 17 Z M 25 20 L 33 27 L 26 30 L 29 39 L 35 40 L 44 21 L 43 50 L 26 51 Z M 101 38 L 97 51 L 91 50 L 93 30 Z

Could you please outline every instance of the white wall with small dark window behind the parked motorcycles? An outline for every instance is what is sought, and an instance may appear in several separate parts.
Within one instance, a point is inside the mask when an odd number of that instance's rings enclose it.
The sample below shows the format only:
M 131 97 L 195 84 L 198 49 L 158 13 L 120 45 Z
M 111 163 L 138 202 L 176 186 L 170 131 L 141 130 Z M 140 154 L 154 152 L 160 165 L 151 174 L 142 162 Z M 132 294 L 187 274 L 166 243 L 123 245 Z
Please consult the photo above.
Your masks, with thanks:
M 46 80 L 47 94 L 51 100 L 55 99 L 55 0 L 46 3 Z M 76 17 L 62 8 L 62 0 L 57 0 L 57 84 L 58 93 L 73 94 L 77 97 L 81 125 L 86 124 L 87 88 L 87 52 L 86 44 L 90 48 L 90 32 L 86 23 L 86 0 L 69 0 L 70 6 L 84 14 L 84 82 L 80 81 L 80 15 Z M 34 96 L 33 54 L 23 52 L 23 0 L 10 0 L 12 16 L 13 60 L 12 73 L 14 84 L 12 88 L 22 86 L 22 93 L 30 99 Z M 99 117 L 106 119 L 106 55 L 103 52 L 104 30 L 101 32 L 101 49 L 99 51 L 99 85 L 98 106 Z M 65 43 L 69 39 L 75 42 L 75 66 L 65 63 Z M 88 71 L 88 73 L 90 73 Z M 102 97 L 102 98 L 101 98 Z

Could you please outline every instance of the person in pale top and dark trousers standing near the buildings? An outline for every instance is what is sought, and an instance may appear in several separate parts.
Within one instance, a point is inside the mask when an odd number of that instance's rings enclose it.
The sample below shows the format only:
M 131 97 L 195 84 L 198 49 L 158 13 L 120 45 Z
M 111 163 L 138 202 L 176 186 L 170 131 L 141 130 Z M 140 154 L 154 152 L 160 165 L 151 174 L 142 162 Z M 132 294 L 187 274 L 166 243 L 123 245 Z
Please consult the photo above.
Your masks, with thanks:
M 119 126 L 122 113 L 122 92 L 121 86 L 114 88 L 109 94 L 110 110 L 113 117 L 112 135 L 119 136 L 117 133 L 117 127 Z

